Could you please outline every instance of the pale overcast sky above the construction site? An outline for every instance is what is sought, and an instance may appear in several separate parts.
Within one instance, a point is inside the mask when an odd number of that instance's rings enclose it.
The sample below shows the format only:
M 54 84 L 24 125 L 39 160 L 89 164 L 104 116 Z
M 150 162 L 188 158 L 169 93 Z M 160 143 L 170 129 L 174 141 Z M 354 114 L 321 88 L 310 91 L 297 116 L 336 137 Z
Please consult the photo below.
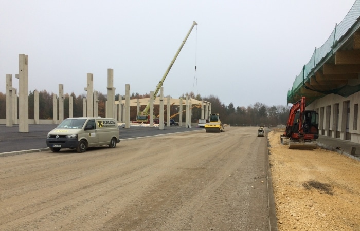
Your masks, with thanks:
M 6 74 L 19 89 L 28 55 L 29 91 L 85 94 L 86 75 L 107 94 L 154 91 L 193 28 L 164 95 L 214 95 L 235 107 L 287 105 L 287 91 L 315 47 L 326 42 L 355 0 L 84 1 L 0 0 L 0 92 Z M 196 66 L 196 71 L 195 71 Z

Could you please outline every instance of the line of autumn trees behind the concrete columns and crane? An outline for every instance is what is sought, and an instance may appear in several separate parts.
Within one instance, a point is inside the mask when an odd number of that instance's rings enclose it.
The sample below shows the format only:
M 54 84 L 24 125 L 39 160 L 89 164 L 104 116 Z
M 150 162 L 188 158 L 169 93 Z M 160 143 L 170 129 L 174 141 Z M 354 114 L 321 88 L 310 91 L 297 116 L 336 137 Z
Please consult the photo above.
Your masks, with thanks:
M 34 92 L 29 92 L 29 119 L 34 119 Z M 193 92 L 185 93 L 181 95 L 181 98 L 184 100 L 186 96 L 199 100 L 207 101 L 211 103 L 211 112 L 219 113 L 223 123 L 230 124 L 230 126 L 276 126 L 278 124 L 286 124 L 287 118 L 289 117 L 289 106 L 282 105 L 272 105 L 267 106 L 263 103 L 256 102 L 253 105 L 247 107 L 233 105 L 229 103 L 225 105 L 220 101 L 220 99 L 215 95 L 209 95 L 208 97 L 201 97 L 200 94 L 195 95 Z M 66 93 L 64 95 L 64 119 L 69 118 L 69 99 L 70 96 L 73 97 L 73 117 L 82 117 L 83 116 L 83 99 L 86 98 L 86 94 L 82 93 L 78 96 L 74 92 L 71 94 Z M 142 99 L 149 98 L 150 94 L 139 94 L 132 93 L 130 99 Z M 119 94 L 115 95 L 115 101 L 122 99 L 125 100 Z M 98 108 L 99 116 L 105 117 L 105 102 L 107 100 L 107 95 L 101 92 L 98 92 Z M 17 111 L 19 115 L 19 98 L 17 98 Z M 58 104 L 59 105 L 59 104 Z M 185 105 L 185 102 L 184 104 Z M 52 119 L 53 118 L 53 99 L 52 93 L 47 92 L 46 90 L 39 91 L 39 119 Z M 145 109 L 145 106 L 140 106 L 140 111 Z M 167 105 L 165 105 L 167 109 Z M 185 106 L 184 109 L 185 110 Z M 59 111 L 59 110 L 58 110 Z M 170 114 L 177 114 L 173 119 L 179 121 L 179 107 L 170 106 Z M 183 121 L 185 121 L 185 112 L 183 114 Z M 166 114 L 166 112 L 165 112 Z M 159 115 L 159 105 L 154 105 L 154 115 L 157 117 Z M 18 117 L 19 118 L 19 117 Z M 197 122 L 197 119 L 201 118 L 201 108 L 194 107 L 192 108 L 192 122 Z M 0 92 L 0 119 L 6 119 L 6 95 Z M 130 120 L 136 119 L 136 107 L 130 108 Z

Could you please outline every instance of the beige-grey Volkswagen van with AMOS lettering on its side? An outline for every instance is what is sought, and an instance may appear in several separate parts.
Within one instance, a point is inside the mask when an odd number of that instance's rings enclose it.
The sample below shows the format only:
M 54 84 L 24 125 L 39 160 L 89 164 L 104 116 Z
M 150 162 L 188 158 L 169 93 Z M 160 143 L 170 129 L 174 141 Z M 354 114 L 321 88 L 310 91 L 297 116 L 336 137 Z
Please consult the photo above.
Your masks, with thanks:
M 113 118 L 78 117 L 63 120 L 47 134 L 46 146 L 53 152 L 73 148 L 84 152 L 88 147 L 119 143 L 119 127 Z

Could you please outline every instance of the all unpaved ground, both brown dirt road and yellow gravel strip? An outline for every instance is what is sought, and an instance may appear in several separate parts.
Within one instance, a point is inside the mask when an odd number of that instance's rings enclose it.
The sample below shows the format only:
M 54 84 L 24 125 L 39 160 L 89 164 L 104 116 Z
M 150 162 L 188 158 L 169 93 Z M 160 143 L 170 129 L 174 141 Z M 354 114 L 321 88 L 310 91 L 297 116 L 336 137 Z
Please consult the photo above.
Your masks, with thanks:
M 257 129 L 1 157 L 0 230 L 360 230 L 357 144 L 293 150 Z

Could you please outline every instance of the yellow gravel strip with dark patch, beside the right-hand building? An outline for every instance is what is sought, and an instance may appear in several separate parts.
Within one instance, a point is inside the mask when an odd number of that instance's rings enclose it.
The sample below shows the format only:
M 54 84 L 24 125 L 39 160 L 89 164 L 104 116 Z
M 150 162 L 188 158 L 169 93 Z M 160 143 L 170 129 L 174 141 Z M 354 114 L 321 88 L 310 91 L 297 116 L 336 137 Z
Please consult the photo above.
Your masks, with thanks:
M 360 230 L 360 162 L 324 149 L 294 150 L 268 133 L 279 230 Z

